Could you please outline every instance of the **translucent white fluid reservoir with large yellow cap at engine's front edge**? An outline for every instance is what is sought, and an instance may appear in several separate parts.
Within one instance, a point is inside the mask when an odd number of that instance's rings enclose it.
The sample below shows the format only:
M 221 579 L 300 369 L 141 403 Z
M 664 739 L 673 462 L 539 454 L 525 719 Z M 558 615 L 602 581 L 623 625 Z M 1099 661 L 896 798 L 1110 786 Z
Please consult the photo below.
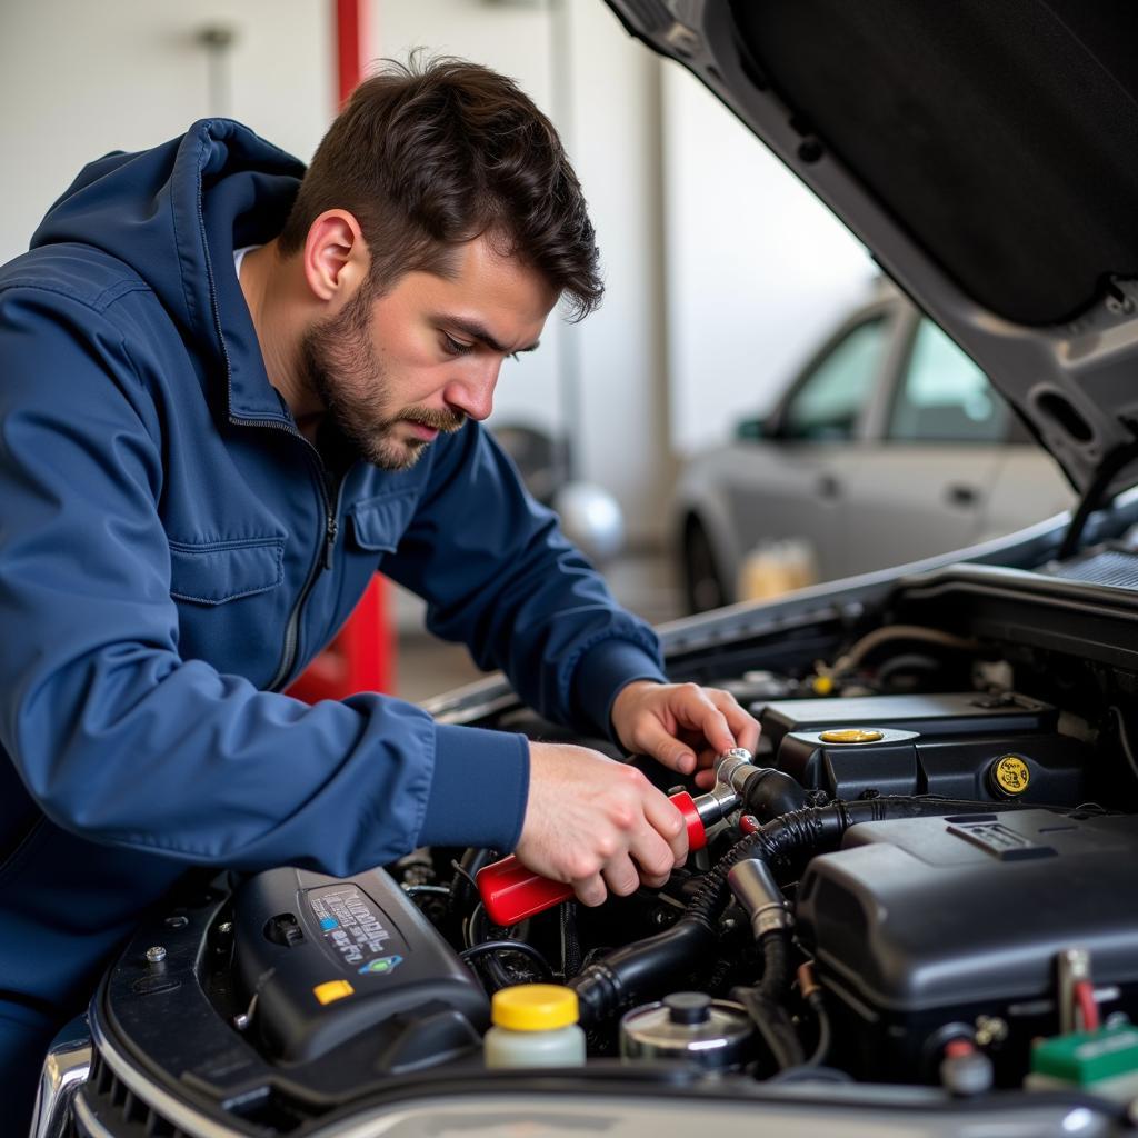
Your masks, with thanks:
M 490 999 L 493 1026 L 484 1040 L 489 1067 L 579 1066 L 585 1032 L 577 993 L 560 984 L 516 984 Z

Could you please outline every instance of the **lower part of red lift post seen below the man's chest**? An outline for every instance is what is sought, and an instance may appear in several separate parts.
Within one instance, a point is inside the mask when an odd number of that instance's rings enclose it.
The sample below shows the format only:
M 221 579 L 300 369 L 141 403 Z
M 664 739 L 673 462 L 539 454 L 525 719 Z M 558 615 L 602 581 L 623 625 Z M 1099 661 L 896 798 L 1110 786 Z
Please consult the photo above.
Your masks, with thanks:
M 339 635 L 292 682 L 288 694 L 305 703 L 394 688 L 395 634 L 387 615 L 388 585 L 376 576 Z

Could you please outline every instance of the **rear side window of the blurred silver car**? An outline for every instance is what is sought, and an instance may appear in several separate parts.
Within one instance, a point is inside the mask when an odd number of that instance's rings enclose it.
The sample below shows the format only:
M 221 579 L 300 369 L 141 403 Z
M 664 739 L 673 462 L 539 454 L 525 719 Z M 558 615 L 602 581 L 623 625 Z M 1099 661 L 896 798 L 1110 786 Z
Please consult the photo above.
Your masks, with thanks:
M 887 438 L 900 443 L 1003 443 L 1011 410 L 988 377 L 934 323 L 917 325 Z

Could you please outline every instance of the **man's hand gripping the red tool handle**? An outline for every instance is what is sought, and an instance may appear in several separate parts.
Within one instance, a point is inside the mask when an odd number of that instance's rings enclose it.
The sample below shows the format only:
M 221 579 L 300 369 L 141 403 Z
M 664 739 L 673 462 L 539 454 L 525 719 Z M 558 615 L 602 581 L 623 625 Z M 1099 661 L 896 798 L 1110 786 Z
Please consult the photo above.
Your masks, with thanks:
M 605 885 L 659 887 L 687 856 L 683 816 L 635 767 L 584 747 L 529 744 L 529 799 L 518 859 L 572 884 L 585 905 Z

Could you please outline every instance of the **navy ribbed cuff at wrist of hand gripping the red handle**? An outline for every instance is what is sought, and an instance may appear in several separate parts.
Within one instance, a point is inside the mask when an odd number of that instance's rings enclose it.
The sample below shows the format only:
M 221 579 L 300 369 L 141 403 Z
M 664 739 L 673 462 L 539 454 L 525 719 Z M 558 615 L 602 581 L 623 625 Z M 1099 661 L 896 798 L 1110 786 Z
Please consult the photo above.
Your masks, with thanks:
M 420 846 L 518 844 L 529 795 L 529 741 L 479 727 L 435 725 L 435 770 Z

